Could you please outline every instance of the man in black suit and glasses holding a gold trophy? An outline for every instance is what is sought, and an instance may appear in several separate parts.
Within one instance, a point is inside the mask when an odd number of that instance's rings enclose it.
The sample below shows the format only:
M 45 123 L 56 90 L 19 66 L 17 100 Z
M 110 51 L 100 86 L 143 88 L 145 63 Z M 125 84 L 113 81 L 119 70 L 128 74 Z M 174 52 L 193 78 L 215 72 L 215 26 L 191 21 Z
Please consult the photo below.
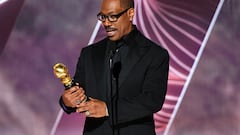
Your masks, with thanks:
M 86 116 L 84 135 L 155 135 L 163 105 L 168 52 L 132 23 L 133 0 L 103 0 L 97 15 L 107 37 L 82 49 L 74 81 L 63 92 L 66 113 Z M 88 99 L 88 100 L 86 100 Z

